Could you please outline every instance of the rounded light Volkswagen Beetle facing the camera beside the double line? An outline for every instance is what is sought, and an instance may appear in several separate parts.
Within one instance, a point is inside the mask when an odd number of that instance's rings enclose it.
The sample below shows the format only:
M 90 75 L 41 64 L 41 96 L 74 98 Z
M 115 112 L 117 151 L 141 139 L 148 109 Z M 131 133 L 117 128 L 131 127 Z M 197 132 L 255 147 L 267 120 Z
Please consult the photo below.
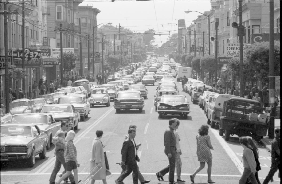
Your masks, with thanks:
M 91 107 L 94 105 L 106 105 L 106 107 L 110 106 L 111 98 L 108 94 L 107 88 L 104 87 L 96 87 L 92 89 L 91 95 L 89 97 L 89 103 Z

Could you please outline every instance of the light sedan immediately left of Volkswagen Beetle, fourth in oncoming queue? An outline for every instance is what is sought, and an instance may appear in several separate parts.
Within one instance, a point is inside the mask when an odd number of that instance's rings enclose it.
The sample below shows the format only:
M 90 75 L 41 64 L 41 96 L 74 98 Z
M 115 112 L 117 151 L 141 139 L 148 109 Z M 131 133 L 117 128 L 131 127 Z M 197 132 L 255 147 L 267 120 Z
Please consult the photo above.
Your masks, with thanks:
M 85 95 L 66 95 L 58 98 L 57 104 L 72 104 L 74 109 L 79 112 L 81 121 L 88 118 L 90 104 Z

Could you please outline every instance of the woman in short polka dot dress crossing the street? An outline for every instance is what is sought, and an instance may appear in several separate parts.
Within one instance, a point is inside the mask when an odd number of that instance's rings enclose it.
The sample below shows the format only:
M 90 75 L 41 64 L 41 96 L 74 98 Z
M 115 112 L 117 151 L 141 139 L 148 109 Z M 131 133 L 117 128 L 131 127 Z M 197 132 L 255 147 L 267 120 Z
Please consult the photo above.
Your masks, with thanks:
M 207 125 L 202 125 L 199 129 L 199 135 L 196 136 L 197 139 L 197 156 L 200 161 L 200 166 L 195 170 L 195 172 L 190 175 L 191 182 L 194 183 L 194 178 L 198 172 L 200 172 L 204 167 L 205 163 L 208 164 L 208 183 L 215 183 L 211 180 L 211 166 L 212 166 L 212 155 L 211 150 L 213 147 L 211 145 L 209 127 Z

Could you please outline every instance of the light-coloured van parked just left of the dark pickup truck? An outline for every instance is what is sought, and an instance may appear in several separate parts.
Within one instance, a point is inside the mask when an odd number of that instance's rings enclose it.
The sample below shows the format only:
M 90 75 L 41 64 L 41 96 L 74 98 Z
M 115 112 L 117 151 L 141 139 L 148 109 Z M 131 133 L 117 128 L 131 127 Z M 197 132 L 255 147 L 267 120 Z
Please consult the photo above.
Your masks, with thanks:
M 207 108 L 207 124 L 211 124 L 211 128 L 214 128 L 216 124 L 219 124 L 223 104 L 226 100 L 229 100 L 229 98 L 231 97 L 237 96 L 227 94 L 216 94 L 209 100 L 210 105 Z

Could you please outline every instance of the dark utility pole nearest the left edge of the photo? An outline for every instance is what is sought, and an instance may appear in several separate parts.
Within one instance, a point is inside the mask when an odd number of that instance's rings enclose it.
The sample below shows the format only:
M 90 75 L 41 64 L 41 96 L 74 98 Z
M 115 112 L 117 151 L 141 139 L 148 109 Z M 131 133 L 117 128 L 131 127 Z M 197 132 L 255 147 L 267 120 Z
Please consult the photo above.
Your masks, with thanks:
M 4 49 L 5 49 L 5 93 L 6 93 L 6 112 L 9 112 L 10 98 L 9 95 L 9 61 L 8 61 L 8 23 L 7 23 L 7 3 L 4 2 Z

